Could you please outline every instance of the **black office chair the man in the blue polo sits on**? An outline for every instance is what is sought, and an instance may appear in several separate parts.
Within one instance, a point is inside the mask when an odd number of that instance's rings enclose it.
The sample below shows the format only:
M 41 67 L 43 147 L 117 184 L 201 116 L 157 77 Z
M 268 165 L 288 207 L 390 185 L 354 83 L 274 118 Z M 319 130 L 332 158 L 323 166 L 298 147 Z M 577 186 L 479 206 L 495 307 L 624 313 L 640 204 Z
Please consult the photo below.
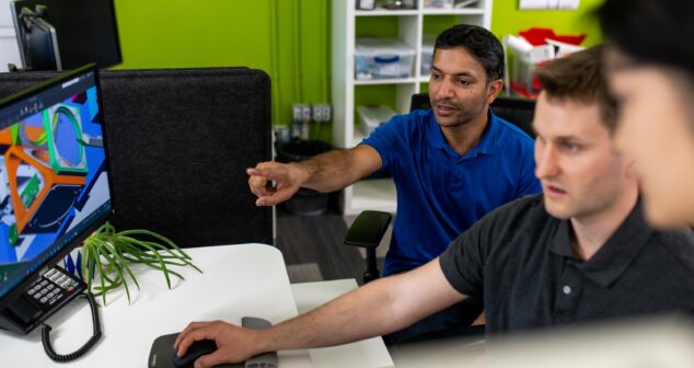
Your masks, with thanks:
M 409 111 L 418 108 L 431 108 L 428 93 L 417 93 L 412 95 Z M 530 137 L 534 138 L 532 120 L 535 111 L 535 101 L 528 99 L 517 99 L 498 96 L 491 103 L 494 113 L 521 128 Z M 391 214 L 384 211 L 365 210 L 355 220 L 345 235 L 345 245 L 359 246 L 366 249 L 367 268 L 363 273 L 363 284 L 379 278 L 379 269 L 375 262 L 375 249 L 381 243 L 383 234 L 392 219 Z

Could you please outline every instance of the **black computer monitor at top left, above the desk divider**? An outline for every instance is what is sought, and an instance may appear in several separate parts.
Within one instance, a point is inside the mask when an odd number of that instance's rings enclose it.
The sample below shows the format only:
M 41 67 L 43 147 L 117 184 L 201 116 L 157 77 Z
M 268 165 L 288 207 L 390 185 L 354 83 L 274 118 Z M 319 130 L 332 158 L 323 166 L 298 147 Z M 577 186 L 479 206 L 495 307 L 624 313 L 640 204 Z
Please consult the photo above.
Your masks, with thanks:
M 23 53 L 33 50 L 20 37 L 22 9 L 36 12 L 36 7 L 42 9 L 39 18 L 55 30 L 58 64 L 50 70 L 71 70 L 92 62 L 108 68 L 123 61 L 113 0 L 21 0 L 12 1 L 10 8 L 24 68 L 48 70 L 25 58 Z

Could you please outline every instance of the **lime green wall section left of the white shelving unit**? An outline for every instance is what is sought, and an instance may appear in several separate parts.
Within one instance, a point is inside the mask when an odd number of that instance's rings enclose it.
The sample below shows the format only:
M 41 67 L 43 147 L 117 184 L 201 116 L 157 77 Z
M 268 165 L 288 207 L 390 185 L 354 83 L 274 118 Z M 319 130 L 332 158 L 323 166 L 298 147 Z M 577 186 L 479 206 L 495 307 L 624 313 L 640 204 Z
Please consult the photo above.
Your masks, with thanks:
M 280 125 L 291 118 L 293 102 L 329 100 L 328 1 L 115 0 L 115 8 L 119 69 L 265 70 L 273 82 L 273 122 Z

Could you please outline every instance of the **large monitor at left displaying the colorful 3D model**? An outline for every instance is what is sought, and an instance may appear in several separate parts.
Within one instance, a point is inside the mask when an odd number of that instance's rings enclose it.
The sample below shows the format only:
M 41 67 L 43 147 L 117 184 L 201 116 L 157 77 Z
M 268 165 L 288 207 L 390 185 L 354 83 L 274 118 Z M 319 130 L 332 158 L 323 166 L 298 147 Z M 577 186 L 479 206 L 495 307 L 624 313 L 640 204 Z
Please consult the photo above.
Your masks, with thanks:
M 112 212 L 97 74 L 0 101 L 0 307 Z

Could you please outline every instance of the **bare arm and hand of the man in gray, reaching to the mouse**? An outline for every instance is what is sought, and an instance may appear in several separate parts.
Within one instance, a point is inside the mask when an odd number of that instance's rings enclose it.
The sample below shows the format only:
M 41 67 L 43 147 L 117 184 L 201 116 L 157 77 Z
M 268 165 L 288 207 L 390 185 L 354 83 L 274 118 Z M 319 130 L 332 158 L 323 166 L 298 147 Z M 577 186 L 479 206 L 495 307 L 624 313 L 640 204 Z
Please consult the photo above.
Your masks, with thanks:
M 209 367 L 263 352 L 331 346 L 382 335 L 462 299 L 436 258 L 415 271 L 367 284 L 270 329 L 246 330 L 219 321 L 192 323 L 175 347 L 184 354 L 194 341 L 215 340 L 218 350 L 198 359 L 199 367 Z

